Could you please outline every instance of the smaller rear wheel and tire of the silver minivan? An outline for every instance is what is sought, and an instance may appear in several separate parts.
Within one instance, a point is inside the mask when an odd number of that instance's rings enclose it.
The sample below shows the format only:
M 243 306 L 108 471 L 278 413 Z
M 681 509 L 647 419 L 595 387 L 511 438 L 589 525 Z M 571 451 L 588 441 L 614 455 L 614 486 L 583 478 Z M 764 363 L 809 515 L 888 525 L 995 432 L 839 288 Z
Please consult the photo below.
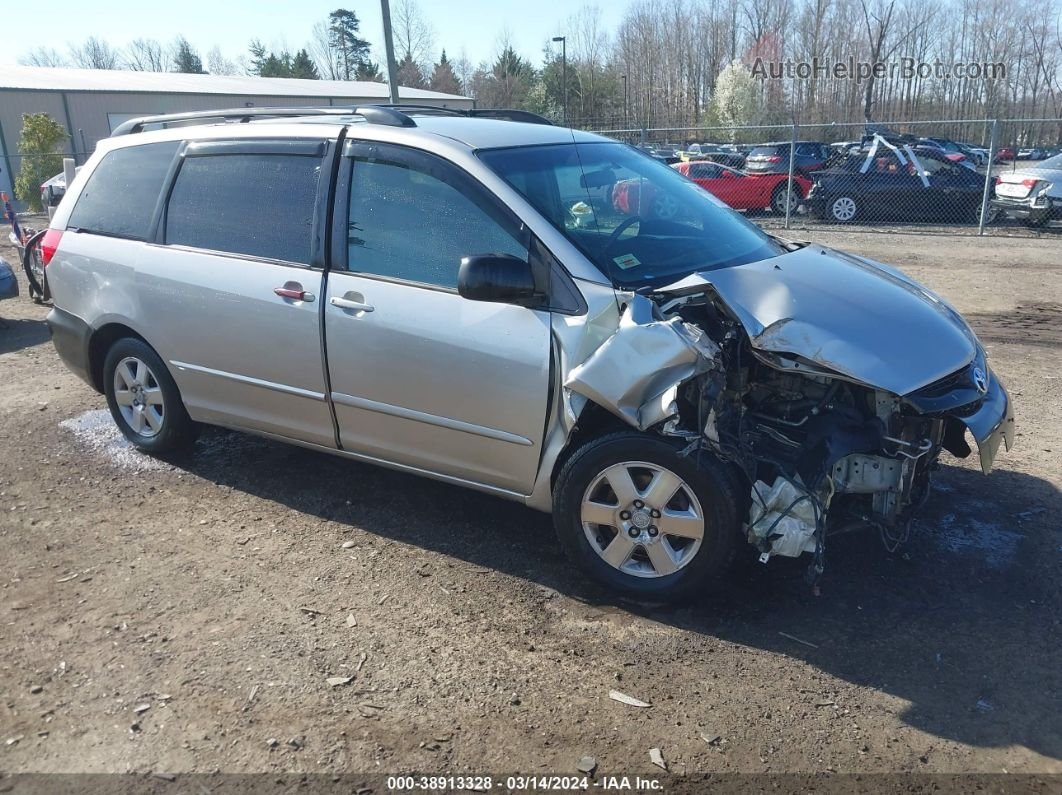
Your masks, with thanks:
M 137 448 L 152 454 L 190 446 L 196 426 L 176 383 L 148 343 L 123 338 L 103 362 L 103 385 L 115 424 Z

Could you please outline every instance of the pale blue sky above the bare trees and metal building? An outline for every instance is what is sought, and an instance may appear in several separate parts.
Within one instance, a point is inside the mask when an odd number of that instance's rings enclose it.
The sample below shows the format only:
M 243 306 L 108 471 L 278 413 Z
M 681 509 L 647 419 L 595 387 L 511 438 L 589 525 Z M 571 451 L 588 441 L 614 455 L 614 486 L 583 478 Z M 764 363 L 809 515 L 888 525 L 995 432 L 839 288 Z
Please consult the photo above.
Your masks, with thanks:
M 537 63 L 545 42 L 564 35 L 565 20 L 582 5 L 565 0 L 419 0 L 418 4 L 434 29 L 436 49 L 445 47 L 447 55 L 455 58 L 464 50 L 474 64 L 491 58 L 503 31 L 508 31 L 520 54 Z M 601 0 L 599 4 L 602 21 L 614 30 L 626 0 Z M 0 49 L 0 66 L 14 65 L 19 55 L 35 47 L 52 47 L 65 54 L 68 42 L 83 41 L 91 35 L 124 47 L 135 38 L 169 42 L 184 34 L 201 55 L 218 46 L 234 59 L 246 54 L 252 38 L 294 51 L 309 42 L 313 24 L 337 7 L 350 8 L 358 15 L 362 34 L 374 47 L 374 57 L 382 61 L 379 0 L 48 0 L 7 4 L 3 13 L 7 35 Z

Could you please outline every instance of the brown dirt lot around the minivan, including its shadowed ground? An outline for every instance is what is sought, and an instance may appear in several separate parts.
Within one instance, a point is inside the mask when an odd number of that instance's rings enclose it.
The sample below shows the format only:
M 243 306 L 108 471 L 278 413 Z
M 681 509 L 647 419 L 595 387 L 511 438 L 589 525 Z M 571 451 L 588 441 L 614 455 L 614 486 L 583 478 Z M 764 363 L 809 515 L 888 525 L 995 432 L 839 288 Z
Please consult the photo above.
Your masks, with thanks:
M 487 497 L 221 431 L 134 453 L 3 301 L 0 771 L 1062 773 L 1062 240 L 807 237 L 957 305 L 1017 447 L 949 460 L 898 552 L 833 541 L 819 598 L 772 561 L 678 610 Z

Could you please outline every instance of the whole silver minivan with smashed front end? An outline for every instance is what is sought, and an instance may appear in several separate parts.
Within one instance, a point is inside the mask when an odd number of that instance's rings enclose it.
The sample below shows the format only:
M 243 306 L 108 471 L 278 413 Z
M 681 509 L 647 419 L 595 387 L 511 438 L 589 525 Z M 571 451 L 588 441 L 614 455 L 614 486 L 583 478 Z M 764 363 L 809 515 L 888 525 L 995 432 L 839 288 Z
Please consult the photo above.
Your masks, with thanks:
M 144 451 L 215 425 L 498 495 L 664 600 L 743 543 L 813 580 L 835 530 L 898 542 L 942 451 L 972 436 L 988 472 L 1011 444 L 939 296 L 632 146 L 526 114 L 206 116 L 123 125 L 41 241 L 55 347 Z

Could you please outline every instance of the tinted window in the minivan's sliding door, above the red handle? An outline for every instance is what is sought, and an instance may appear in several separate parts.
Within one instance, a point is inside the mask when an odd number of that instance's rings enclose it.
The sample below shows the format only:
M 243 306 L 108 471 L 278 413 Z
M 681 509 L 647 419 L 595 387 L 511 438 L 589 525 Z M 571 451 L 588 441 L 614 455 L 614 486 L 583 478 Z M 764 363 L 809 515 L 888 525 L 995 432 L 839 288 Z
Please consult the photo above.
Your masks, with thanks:
M 166 212 L 166 242 L 286 262 L 310 261 L 321 159 L 189 157 Z

